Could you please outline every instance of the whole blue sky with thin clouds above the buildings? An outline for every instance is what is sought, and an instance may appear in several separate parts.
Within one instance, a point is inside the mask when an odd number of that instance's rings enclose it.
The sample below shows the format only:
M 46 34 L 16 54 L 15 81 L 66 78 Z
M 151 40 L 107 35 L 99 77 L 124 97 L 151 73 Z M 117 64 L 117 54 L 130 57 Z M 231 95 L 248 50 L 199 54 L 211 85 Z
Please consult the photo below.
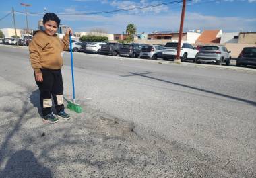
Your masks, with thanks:
M 131 7 L 141 7 L 177 0 L 9 0 L 1 3 L 0 18 L 11 11 L 24 11 L 20 3 L 31 4 L 29 12 L 44 13 L 44 7 L 53 13 L 88 13 Z M 16 13 L 18 28 L 25 28 L 23 14 Z M 29 15 L 29 27 L 37 29 L 43 15 Z M 102 28 L 108 33 L 125 31 L 128 23 L 137 26 L 137 32 L 151 33 L 155 30 L 178 30 L 181 4 L 170 4 L 154 9 L 107 13 L 98 15 L 59 15 L 61 24 L 71 26 L 74 31 L 89 31 Z M 13 28 L 12 16 L 0 21 L 0 28 Z M 256 0 L 193 0 L 187 2 L 185 30 L 222 29 L 224 32 L 256 32 Z

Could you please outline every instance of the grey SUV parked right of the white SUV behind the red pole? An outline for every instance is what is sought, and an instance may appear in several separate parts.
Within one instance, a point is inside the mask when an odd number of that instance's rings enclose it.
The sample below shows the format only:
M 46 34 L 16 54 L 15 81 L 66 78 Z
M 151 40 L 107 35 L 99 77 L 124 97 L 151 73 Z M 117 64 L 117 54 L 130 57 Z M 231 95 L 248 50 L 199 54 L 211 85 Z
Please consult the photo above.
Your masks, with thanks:
M 222 65 L 223 62 L 228 66 L 230 64 L 231 56 L 230 51 L 225 46 L 202 46 L 195 62 L 214 62 L 218 65 Z

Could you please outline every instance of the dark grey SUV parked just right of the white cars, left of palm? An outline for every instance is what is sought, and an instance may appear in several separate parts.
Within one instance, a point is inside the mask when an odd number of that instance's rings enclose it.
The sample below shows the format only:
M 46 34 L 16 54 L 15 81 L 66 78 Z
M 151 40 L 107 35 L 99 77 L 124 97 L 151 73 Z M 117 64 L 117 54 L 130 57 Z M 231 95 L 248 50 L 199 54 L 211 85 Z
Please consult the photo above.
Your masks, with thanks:
M 98 51 L 100 54 L 112 54 L 113 56 L 117 56 L 120 54 L 120 49 L 123 47 L 121 43 L 106 43 L 103 44 Z

